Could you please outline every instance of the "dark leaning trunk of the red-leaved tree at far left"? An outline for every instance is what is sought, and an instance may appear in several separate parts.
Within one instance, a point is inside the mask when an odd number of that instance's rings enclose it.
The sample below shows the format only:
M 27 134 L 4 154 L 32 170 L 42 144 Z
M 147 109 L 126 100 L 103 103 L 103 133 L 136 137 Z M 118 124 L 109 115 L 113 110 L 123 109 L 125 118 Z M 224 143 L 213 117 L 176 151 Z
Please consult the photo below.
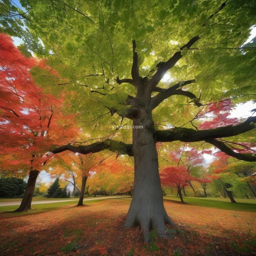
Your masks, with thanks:
M 29 172 L 29 179 L 27 180 L 27 187 L 25 190 L 24 197 L 22 198 L 20 207 L 14 212 L 23 212 L 31 209 L 31 202 L 35 190 L 35 183 L 37 182 L 37 176 L 40 171 L 32 170 Z

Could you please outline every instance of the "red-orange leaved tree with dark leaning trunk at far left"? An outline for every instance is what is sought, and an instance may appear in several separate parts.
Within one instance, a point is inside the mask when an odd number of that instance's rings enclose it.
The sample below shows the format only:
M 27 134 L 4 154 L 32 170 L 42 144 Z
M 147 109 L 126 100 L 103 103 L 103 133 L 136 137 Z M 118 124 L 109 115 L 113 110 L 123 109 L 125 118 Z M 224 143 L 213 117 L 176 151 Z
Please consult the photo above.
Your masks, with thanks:
M 18 212 L 31 208 L 39 172 L 51 157 L 50 149 L 76 136 L 74 115 L 64 111 L 64 101 L 43 93 L 30 71 L 37 66 L 56 75 L 43 62 L 23 56 L 12 39 L 0 34 L 0 135 L 2 166 L 14 175 L 29 174 Z M 64 97 L 64 94 L 62 94 Z

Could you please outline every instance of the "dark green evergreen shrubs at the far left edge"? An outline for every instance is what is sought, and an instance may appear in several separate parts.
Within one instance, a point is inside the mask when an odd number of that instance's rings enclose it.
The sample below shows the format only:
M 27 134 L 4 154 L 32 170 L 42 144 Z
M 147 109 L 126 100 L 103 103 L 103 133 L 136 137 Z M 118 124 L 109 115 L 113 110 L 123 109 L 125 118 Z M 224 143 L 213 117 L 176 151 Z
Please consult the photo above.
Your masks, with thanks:
M 24 193 L 26 185 L 20 178 L 0 178 L 0 197 L 18 197 Z

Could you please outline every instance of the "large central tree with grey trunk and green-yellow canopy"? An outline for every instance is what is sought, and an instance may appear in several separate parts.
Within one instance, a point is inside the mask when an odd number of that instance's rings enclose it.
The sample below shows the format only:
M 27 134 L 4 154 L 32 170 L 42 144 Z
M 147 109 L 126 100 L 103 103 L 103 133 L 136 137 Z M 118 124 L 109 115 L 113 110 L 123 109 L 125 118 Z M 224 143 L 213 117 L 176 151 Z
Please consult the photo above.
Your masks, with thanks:
M 207 104 L 255 99 L 255 47 L 243 46 L 256 23 L 254 1 L 20 2 L 29 10 L 22 14 L 27 27 L 47 49 L 49 65 L 65 78 L 61 83 L 53 78 L 53 90 L 62 86 L 72 92 L 84 131 L 99 139 L 52 152 L 109 149 L 134 156 L 134 197 L 125 226 L 140 225 L 146 241 L 151 228 L 162 236 L 165 222 L 173 224 L 163 206 L 156 142 L 202 141 L 256 161 L 250 150 L 256 117 L 206 130 L 194 125 Z M 116 127 L 129 122 L 132 139 Z M 251 142 L 247 152 L 230 143 L 245 140 Z

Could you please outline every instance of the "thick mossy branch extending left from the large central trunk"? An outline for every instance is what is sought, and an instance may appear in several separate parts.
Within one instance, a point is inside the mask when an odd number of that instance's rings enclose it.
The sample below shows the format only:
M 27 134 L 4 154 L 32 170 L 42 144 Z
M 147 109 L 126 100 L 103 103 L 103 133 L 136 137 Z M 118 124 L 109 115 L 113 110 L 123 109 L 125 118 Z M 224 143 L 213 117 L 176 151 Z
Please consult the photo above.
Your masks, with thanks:
M 69 150 L 73 153 L 96 153 L 105 149 L 108 149 L 112 152 L 117 152 L 121 155 L 130 155 L 133 156 L 133 146 L 131 144 L 126 144 L 121 141 L 116 140 L 104 140 L 102 142 L 95 142 L 86 146 L 73 146 L 73 145 L 65 145 L 59 148 L 53 149 L 51 152 L 53 154 L 61 153 L 63 151 Z

